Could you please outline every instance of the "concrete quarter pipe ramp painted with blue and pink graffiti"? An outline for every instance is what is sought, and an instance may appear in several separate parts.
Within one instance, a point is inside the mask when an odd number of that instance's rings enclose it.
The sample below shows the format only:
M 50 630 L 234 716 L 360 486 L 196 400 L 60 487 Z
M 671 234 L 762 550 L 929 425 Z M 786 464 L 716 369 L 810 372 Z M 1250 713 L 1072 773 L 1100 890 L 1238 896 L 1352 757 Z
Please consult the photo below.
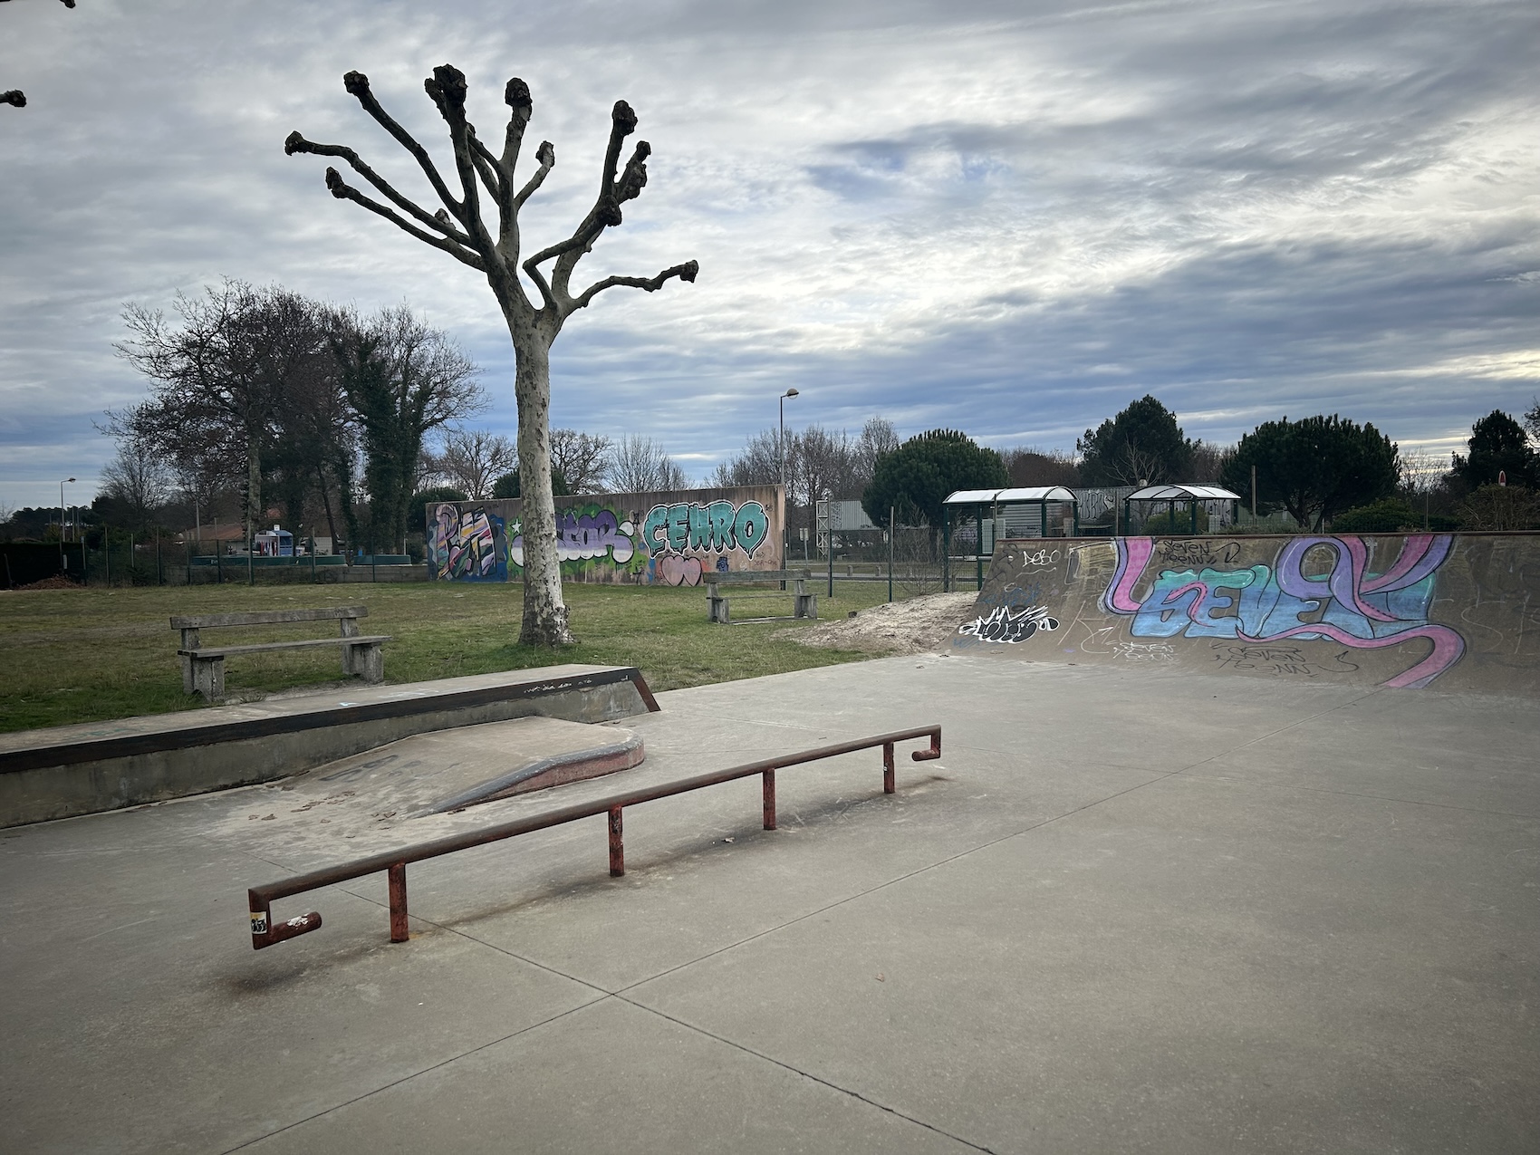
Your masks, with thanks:
M 1540 534 L 1001 542 L 953 648 L 1540 696 Z

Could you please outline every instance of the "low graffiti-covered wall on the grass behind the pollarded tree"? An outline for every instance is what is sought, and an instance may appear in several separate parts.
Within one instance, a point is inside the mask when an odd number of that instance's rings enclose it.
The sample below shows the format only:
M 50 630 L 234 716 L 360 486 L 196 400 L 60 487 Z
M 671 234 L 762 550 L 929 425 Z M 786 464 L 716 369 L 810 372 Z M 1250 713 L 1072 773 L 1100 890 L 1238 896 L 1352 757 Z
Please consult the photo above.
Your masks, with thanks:
M 521 507 L 517 500 L 430 507 L 434 574 L 442 581 L 519 581 Z M 480 541 L 482 521 L 493 534 L 500 567 L 493 567 L 496 576 L 491 570 L 482 576 L 480 554 L 462 559 L 454 553 L 465 534 Z M 699 585 L 708 570 L 782 568 L 782 525 L 781 488 L 772 485 L 557 497 L 556 553 L 564 581 Z

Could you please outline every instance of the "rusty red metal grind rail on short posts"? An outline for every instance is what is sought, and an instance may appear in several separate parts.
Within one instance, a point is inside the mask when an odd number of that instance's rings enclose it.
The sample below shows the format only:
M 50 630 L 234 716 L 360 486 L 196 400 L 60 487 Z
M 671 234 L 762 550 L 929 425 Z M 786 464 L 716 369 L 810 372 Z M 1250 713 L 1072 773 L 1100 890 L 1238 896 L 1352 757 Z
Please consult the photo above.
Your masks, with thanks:
M 302 895 L 306 890 L 319 890 L 320 887 L 336 886 L 337 882 L 346 882 L 354 878 L 363 878 L 365 875 L 374 875 L 380 870 L 385 872 L 387 881 L 390 884 L 390 941 L 405 942 L 407 935 L 407 864 L 420 862 L 427 858 L 439 858 L 442 855 L 453 855 L 456 850 L 468 850 L 476 845 L 487 845 L 488 842 L 500 842 L 505 838 L 517 838 L 519 835 L 528 835 L 536 830 L 548 830 L 553 825 L 562 825 L 565 822 L 576 822 L 582 818 L 596 818 L 599 815 L 610 816 L 610 876 L 619 878 L 625 873 L 625 847 L 621 841 L 621 812 L 628 805 L 639 805 L 641 802 L 651 802 L 658 798 L 670 798 L 671 795 L 684 795 L 691 790 L 702 790 L 708 785 L 718 785 L 719 782 L 732 782 L 739 778 L 752 778 L 759 775 L 762 779 L 762 798 L 764 798 L 764 829 L 775 830 L 776 813 L 775 813 L 775 772 L 782 770 L 790 765 L 801 765 L 802 762 L 816 762 L 824 758 L 838 758 L 839 755 L 849 755 L 856 750 L 870 750 L 872 747 L 882 747 L 882 792 L 893 793 L 893 744 L 909 742 L 919 738 L 930 739 L 929 750 L 915 750 L 910 758 L 916 762 L 924 762 L 932 758 L 941 758 L 941 727 L 939 725 L 918 725 L 912 730 L 895 730 L 886 735 L 876 735 L 873 738 L 858 738 L 852 742 L 836 742 L 833 745 L 821 745 L 815 750 L 801 750 L 792 755 L 781 755 L 779 758 L 765 758 L 759 762 L 748 762 L 745 765 L 728 767 L 727 770 L 716 770 L 708 775 L 699 775 L 696 778 L 682 778 L 678 782 L 664 782 L 645 790 L 633 790 L 624 795 L 611 795 L 610 798 L 599 798 L 593 802 L 582 802 L 579 805 L 568 805 L 561 810 L 551 810 L 545 815 L 534 815 L 533 818 L 521 818 L 514 822 L 502 822 L 499 825 L 491 825 L 484 830 L 471 830 L 464 835 L 450 835 L 448 838 L 436 838 L 431 842 L 417 842 L 416 845 L 399 847 L 396 850 L 388 850 L 380 855 L 370 855 L 368 858 L 357 858 L 351 862 L 342 862 L 334 867 L 326 867 L 323 870 L 311 870 L 305 875 L 294 875 L 293 878 L 280 879 L 279 882 L 268 882 L 262 887 L 251 887 L 246 892 L 246 898 L 251 906 L 251 947 L 253 950 L 262 950 L 262 947 L 271 947 L 274 942 L 282 942 L 288 938 L 296 938 L 299 935 L 306 935 L 311 930 L 320 929 L 320 912 L 311 910 L 308 915 L 300 915 L 297 918 L 290 918 L 282 922 L 273 921 L 273 902 L 280 898 L 288 898 L 290 895 Z

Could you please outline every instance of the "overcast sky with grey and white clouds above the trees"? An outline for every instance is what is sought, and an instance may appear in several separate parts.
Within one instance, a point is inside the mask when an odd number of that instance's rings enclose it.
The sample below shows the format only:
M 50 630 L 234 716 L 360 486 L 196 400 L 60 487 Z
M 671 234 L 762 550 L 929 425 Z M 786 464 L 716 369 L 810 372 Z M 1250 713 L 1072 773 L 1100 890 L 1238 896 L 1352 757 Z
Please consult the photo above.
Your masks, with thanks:
M 1540 391 L 1537 31 L 1534 0 L 9 0 L 0 504 L 89 496 L 92 420 L 145 393 L 123 305 L 220 277 L 410 303 L 511 433 L 485 282 L 283 156 L 348 143 L 428 203 L 342 74 L 442 159 L 445 62 L 484 137 L 510 75 L 534 94 L 527 251 L 581 219 L 625 99 L 648 185 L 582 270 L 701 262 L 568 320 L 556 425 L 702 476 L 792 387 L 788 427 L 1060 450 L 1153 393 L 1212 440 L 1341 413 L 1448 451 Z

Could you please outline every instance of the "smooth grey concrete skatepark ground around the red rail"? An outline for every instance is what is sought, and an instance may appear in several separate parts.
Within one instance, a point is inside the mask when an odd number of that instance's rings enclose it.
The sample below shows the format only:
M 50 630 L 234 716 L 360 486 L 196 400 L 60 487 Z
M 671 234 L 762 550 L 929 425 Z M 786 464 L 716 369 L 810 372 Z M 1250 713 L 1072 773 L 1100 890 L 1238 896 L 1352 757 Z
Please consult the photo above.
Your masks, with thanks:
M 1540 711 L 910 656 L 661 695 L 648 759 L 876 752 L 285 899 L 249 787 L 0 832 L 6 1150 L 1532 1152 Z M 467 812 L 470 813 L 470 812 Z M 373 847 L 370 847 L 373 849 Z

